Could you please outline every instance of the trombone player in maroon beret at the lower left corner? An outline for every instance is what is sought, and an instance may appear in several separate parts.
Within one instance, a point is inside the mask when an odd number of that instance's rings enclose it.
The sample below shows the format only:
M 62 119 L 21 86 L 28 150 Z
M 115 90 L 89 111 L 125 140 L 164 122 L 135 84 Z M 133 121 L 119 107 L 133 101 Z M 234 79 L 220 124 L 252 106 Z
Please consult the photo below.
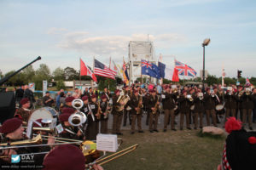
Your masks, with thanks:
M 23 140 L 23 132 L 24 127 L 22 127 L 22 121 L 19 118 L 11 118 L 3 122 L 3 126 L 0 129 L 0 133 L 3 133 L 3 140 L 1 140 L 1 143 L 12 143 L 16 141 Z M 54 144 L 55 141 L 53 138 L 48 139 L 48 144 Z M 36 153 L 38 151 L 48 151 L 49 147 L 22 147 L 22 148 L 15 148 L 15 149 L 9 149 L 9 150 L 3 150 L 2 154 L 0 156 L 8 156 L 7 158 L 0 158 L 0 168 L 3 165 L 9 165 L 11 161 L 11 155 L 19 155 L 19 154 L 29 154 L 29 153 Z M 40 165 L 42 164 L 44 160 L 44 154 L 41 155 L 35 155 L 33 158 L 34 162 L 33 164 Z M 27 165 L 26 163 L 20 163 L 16 164 L 18 165 Z

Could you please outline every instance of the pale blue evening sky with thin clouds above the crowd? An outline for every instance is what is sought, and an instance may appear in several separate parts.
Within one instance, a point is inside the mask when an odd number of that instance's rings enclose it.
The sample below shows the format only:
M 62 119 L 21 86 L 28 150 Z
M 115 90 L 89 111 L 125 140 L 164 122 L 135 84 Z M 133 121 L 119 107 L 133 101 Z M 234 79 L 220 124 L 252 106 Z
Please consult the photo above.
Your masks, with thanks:
M 253 0 L 1 0 L 0 70 L 33 64 L 79 70 L 79 58 L 108 65 L 128 60 L 130 41 L 154 42 L 154 56 L 177 59 L 199 72 L 256 77 L 256 1 Z M 149 36 L 148 36 L 149 35 Z M 254 63 L 254 64 L 253 64 Z

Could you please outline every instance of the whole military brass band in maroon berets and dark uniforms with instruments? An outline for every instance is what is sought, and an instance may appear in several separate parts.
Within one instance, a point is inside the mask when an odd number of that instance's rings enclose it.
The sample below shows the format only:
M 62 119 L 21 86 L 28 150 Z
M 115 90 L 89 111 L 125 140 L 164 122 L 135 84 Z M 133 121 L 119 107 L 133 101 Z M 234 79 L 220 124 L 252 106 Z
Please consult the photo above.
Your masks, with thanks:
M 102 94 L 89 91 L 84 94 L 76 91 L 72 96 L 67 96 L 65 105 L 59 105 L 56 108 L 59 113 L 47 113 L 56 119 L 55 129 L 57 132 L 52 133 L 49 130 L 49 123 L 45 120 L 46 113 L 42 112 L 37 120 L 33 120 L 32 127 L 39 127 L 39 130 L 32 132 L 44 136 L 45 129 L 48 136 L 48 146 L 44 146 L 40 151 L 52 152 L 52 146 L 60 139 L 74 140 L 74 142 L 83 140 L 96 140 L 98 133 L 108 132 L 108 120 L 110 114 L 113 116 L 112 133 L 122 135 L 121 123 L 124 116 L 124 126 L 126 119 L 131 119 L 131 134 L 136 131 L 144 133 L 142 127 L 142 118 L 147 116 L 148 130 L 150 133 L 159 132 L 159 116 L 164 114 L 163 132 L 167 131 L 168 124 L 171 124 L 171 130 L 176 129 L 176 117 L 179 115 L 179 129 L 183 130 L 184 117 L 186 119 L 186 128 L 191 130 L 190 125 L 194 124 L 194 129 L 203 127 L 203 119 L 206 116 L 207 126 L 218 127 L 218 122 L 225 122 L 230 116 L 241 117 L 243 127 L 248 124 L 249 129 L 253 129 L 252 111 L 256 100 L 256 90 L 253 92 L 250 88 L 227 88 L 226 90 L 219 87 L 206 88 L 203 93 L 201 88 L 197 87 L 178 87 L 173 88 L 171 85 L 164 85 L 162 92 L 158 93 L 156 88 L 147 89 L 143 86 L 133 85 L 126 86 L 121 90 L 116 89 L 113 95 L 108 88 L 104 88 Z M 62 97 L 63 97 L 63 92 Z M 60 93 L 60 94 L 61 94 Z M 48 95 L 48 94 L 47 94 Z M 52 101 L 49 96 L 44 99 L 47 104 Z M 32 120 L 35 111 L 30 110 L 30 99 L 20 100 L 21 107 L 15 112 L 15 118 L 3 122 L 1 127 L 1 145 L 7 143 L 12 145 L 16 140 L 24 139 L 24 127 L 28 126 Z M 50 105 L 45 105 L 50 106 Z M 49 110 L 49 112 L 52 110 Z M 55 110 L 54 110 L 55 111 Z M 55 111 L 56 112 L 56 111 Z M 221 120 L 224 117 L 224 120 Z M 27 127 L 28 128 L 28 127 Z M 62 141 L 63 142 L 63 141 Z M 65 143 L 65 142 L 64 142 Z M 64 147 L 64 146 L 63 146 Z M 71 147 L 72 146 L 67 146 Z M 65 148 L 65 147 L 64 147 Z M 67 149 L 67 148 L 65 148 Z M 3 150 L 0 156 L 1 163 L 9 164 L 10 156 L 14 154 L 31 153 L 37 150 L 35 148 L 11 148 Z M 52 153 L 53 154 L 53 153 Z M 49 162 L 42 156 L 37 156 L 37 162 L 49 165 Z M 46 155 L 47 156 L 47 155 Z M 43 158 L 42 158 L 43 157 Z M 44 161 L 44 163 L 43 163 Z M 96 167 L 95 167 L 96 168 Z

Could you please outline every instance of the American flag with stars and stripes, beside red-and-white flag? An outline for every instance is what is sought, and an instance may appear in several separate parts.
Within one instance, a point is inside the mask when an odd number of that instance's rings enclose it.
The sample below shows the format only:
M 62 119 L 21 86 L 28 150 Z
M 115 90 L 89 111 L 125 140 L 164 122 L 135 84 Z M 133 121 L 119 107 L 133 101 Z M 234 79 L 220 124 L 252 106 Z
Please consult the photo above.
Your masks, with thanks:
M 116 73 L 117 73 L 116 71 L 112 71 L 111 69 L 108 68 L 108 66 L 102 64 L 97 59 L 94 60 L 94 74 L 95 75 L 98 75 L 101 77 L 112 78 L 114 80 Z

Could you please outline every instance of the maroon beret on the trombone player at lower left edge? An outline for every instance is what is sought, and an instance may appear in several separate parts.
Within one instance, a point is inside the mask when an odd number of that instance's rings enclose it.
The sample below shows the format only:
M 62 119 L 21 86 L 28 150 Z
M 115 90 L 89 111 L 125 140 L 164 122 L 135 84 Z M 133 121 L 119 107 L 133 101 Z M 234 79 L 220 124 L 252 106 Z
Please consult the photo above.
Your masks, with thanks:
M 3 126 L 1 127 L 0 132 L 3 134 L 13 133 L 16 129 L 20 127 L 21 124 L 22 121 L 17 117 L 8 119 L 3 122 Z

